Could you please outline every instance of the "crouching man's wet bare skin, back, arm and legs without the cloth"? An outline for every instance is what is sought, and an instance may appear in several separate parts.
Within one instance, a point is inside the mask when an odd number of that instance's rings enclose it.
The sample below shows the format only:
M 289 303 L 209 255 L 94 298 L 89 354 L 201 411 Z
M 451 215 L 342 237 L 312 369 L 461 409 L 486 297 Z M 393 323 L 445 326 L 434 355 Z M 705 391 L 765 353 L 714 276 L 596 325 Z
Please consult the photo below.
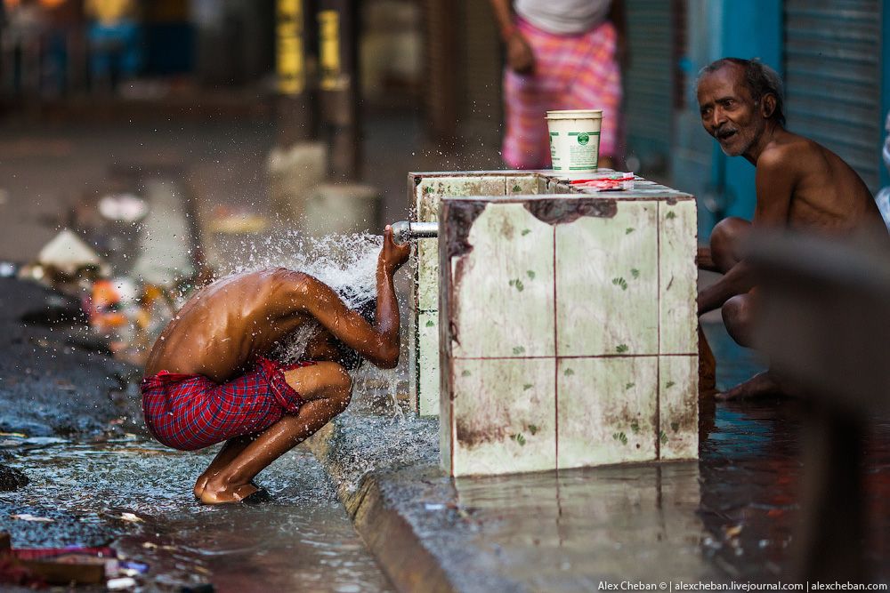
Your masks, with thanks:
M 349 404 L 352 381 L 337 364 L 333 340 L 382 368 L 399 362 L 399 306 L 392 276 L 408 260 L 409 244 L 392 242 L 384 230 L 377 259 L 376 326 L 346 307 L 327 284 L 285 268 L 264 269 L 225 278 L 194 295 L 158 337 L 145 367 L 146 376 L 202 374 L 230 381 L 307 323 L 320 330 L 304 357 L 317 365 L 285 373 L 305 404 L 258 435 L 229 440 L 198 477 L 194 493 L 206 504 L 241 501 L 257 488 L 253 478 L 272 461 L 312 436 Z

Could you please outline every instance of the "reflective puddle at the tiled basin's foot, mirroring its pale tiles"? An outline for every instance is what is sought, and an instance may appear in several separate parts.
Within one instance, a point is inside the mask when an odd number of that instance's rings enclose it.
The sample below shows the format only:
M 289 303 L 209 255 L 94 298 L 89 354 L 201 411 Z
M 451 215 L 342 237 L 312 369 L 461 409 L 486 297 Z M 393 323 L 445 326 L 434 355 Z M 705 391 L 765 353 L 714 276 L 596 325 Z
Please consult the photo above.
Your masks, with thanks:
M 758 368 L 720 328 L 728 387 Z M 720 374 L 722 373 L 722 375 Z M 804 411 L 762 399 L 700 408 L 700 460 L 464 477 L 457 501 L 492 566 L 536 590 L 608 581 L 776 581 L 793 562 Z M 890 578 L 890 421 L 875 421 L 865 466 L 866 564 Z

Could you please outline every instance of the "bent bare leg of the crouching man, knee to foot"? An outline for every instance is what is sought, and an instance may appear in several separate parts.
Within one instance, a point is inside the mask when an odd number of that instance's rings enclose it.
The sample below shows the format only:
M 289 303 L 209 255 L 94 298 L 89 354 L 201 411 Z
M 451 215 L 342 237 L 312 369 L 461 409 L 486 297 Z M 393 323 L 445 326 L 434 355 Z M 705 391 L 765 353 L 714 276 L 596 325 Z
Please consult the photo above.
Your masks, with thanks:
M 336 363 L 323 362 L 287 371 L 287 384 L 305 402 L 296 414 L 286 414 L 247 444 L 234 459 L 209 477 L 201 501 L 206 504 L 241 501 L 257 488 L 250 481 L 272 461 L 311 437 L 346 409 L 352 379 Z

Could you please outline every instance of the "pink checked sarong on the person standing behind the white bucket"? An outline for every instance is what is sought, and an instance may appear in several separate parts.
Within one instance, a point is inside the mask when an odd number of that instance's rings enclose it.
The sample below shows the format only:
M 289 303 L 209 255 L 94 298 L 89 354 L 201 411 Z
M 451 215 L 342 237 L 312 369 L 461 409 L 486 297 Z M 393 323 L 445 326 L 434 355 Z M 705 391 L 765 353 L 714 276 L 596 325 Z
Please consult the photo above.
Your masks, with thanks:
M 603 109 L 600 156 L 619 157 L 621 71 L 615 59 L 618 34 L 611 21 L 577 36 L 547 33 L 517 19 L 516 28 L 535 56 L 535 71 L 505 68 L 506 132 L 503 156 L 514 169 L 550 166 L 546 112 Z

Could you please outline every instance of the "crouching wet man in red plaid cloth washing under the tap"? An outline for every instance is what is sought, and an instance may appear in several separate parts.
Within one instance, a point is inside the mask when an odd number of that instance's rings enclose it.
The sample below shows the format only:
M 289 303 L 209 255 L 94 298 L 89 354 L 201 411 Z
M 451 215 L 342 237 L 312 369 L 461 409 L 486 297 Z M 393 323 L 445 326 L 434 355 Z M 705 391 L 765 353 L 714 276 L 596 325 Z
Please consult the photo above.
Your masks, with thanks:
M 382 368 L 399 362 L 399 306 L 392 276 L 409 244 L 384 231 L 371 325 L 327 284 L 284 268 L 223 278 L 190 298 L 151 349 L 142 380 L 145 421 L 158 441 L 184 451 L 225 441 L 198 477 L 206 504 L 263 501 L 253 478 L 349 403 L 346 366 L 358 357 Z M 303 362 L 271 352 L 317 323 Z M 358 356 L 356 356 L 358 355 Z

